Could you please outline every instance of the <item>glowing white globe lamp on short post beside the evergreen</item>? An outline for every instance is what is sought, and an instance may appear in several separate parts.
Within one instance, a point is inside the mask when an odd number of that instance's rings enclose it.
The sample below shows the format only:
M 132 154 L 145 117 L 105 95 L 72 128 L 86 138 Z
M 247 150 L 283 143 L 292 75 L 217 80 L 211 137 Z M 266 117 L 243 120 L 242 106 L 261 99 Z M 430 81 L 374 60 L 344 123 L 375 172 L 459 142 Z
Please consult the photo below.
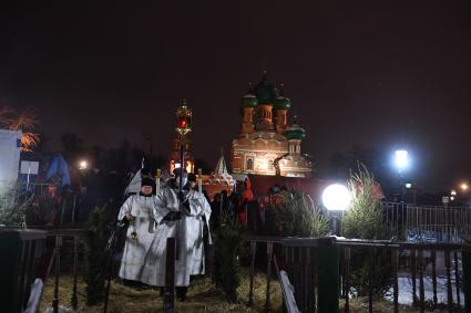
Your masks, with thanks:
M 340 218 L 348 209 L 351 195 L 348 188 L 341 184 L 327 186 L 322 192 L 322 205 L 332 217 L 334 233 L 340 236 Z

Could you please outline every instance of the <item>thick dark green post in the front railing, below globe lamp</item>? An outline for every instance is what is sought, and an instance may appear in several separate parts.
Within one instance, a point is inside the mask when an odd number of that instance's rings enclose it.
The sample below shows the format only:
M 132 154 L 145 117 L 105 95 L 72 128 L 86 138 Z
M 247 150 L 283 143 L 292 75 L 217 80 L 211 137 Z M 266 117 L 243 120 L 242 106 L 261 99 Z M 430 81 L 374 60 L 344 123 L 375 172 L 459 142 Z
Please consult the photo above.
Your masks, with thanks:
M 338 313 L 339 250 L 335 238 L 318 239 L 317 251 L 317 307 L 319 313 Z M 296 290 L 295 290 L 296 291 Z

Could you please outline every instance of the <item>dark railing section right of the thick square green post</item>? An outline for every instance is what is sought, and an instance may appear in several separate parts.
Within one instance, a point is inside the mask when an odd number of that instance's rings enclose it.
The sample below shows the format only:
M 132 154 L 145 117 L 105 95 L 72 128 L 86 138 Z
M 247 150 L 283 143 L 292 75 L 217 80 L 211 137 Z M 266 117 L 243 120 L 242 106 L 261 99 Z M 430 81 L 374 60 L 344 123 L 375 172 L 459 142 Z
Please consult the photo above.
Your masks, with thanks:
M 365 255 L 368 267 L 368 312 L 373 310 L 373 277 L 375 267 L 377 264 L 375 257 L 382 250 L 390 258 L 390 275 L 392 278 L 392 306 L 393 312 L 399 312 L 399 294 L 400 286 L 406 288 L 407 284 L 400 284 L 399 281 L 409 282 L 411 284 L 412 305 L 424 312 L 427 301 L 431 303 L 433 309 L 438 307 L 438 285 L 439 282 L 444 284 L 447 300 L 446 305 L 451 312 L 459 310 L 461 304 L 460 285 L 463 278 L 464 264 L 462 264 L 462 253 L 469 253 L 471 247 L 458 243 L 411 243 L 411 242 L 388 242 L 373 240 L 336 240 L 335 244 L 340 248 L 341 255 L 341 278 L 342 278 L 342 298 L 345 300 L 344 311 L 349 312 L 349 299 L 352 294 L 350 285 L 351 254 L 354 252 Z M 464 252 L 463 252 L 464 251 Z M 388 261 L 388 260 L 386 260 Z M 462 267 L 460 267 L 462 264 Z M 468 279 L 469 277 L 468 272 Z M 427 290 L 426 280 L 431 282 L 431 290 Z M 426 290 L 431 291 L 431 298 L 426 299 Z M 409 290 L 402 291 L 408 293 Z M 453 299 L 453 294 L 455 294 Z M 467 294 L 469 295 L 469 294 Z

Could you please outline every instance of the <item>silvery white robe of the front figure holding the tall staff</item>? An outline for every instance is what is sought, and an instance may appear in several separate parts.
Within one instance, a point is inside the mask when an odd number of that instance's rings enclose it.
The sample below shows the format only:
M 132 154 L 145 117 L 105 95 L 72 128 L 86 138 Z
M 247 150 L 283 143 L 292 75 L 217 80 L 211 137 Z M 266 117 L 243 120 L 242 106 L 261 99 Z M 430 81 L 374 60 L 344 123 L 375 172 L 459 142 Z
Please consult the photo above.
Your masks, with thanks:
M 165 187 L 155 197 L 154 217 L 157 226 L 141 277 L 141 281 L 146 284 L 165 285 L 166 240 L 171 237 L 176 238 L 178 241 L 178 260 L 175 262 L 175 285 L 187 286 L 190 284 L 190 275 L 204 273 L 201 217 L 205 216 L 208 225 L 211 207 L 203 194 L 196 190 L 185 192 L 185 199 L 190 204 L 190 211 L 184 210 L 182 219 L 174 221 L 165 219 L 165 217 L 170 212 L 178 211 L 178 189 Z

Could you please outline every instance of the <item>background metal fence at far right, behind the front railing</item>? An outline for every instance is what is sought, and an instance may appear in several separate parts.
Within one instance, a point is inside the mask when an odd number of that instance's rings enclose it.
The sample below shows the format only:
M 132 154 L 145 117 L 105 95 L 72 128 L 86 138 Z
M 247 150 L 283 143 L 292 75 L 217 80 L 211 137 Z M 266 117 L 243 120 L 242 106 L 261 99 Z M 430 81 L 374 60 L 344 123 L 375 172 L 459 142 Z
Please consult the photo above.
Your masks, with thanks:
M 385 227 L 408 241 L 465 242 L 471 238 L 471 208 L 382 202 Z

